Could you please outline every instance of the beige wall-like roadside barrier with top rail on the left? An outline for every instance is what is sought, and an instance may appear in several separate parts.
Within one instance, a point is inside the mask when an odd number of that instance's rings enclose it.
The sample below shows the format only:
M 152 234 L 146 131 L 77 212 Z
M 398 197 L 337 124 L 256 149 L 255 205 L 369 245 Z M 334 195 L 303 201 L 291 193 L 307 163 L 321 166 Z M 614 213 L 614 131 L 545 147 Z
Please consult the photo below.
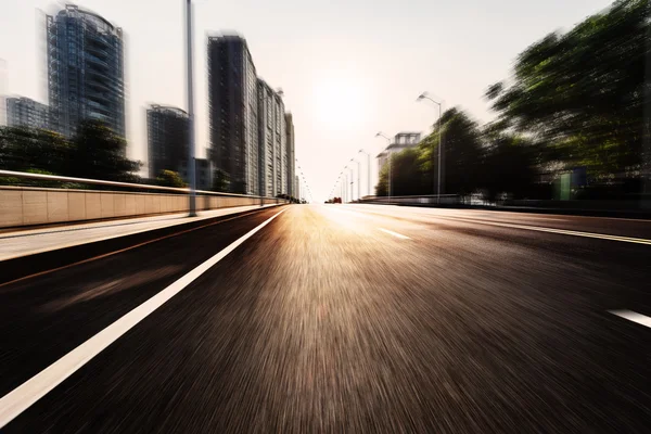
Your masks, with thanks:
M 0 228 L 142 217 L 189 210 L 187 188 L 0 170 L 0 177 L 148 190 L 112 191 L 0 186 Z M 155 191 L 155 192 L 151 192 Z M 278 197 L 197 190 L 196 210 L 288 203 Z

